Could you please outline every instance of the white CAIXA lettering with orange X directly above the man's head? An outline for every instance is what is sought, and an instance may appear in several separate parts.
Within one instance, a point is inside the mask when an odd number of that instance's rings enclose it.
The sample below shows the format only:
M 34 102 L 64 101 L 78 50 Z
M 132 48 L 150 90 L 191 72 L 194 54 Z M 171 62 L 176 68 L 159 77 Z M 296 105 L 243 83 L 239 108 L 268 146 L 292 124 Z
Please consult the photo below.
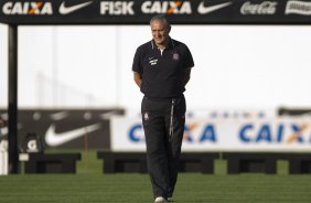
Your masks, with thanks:
M 147 14 L 191 14 L 191 3 L 189 1 L 144 1 L 141 4 L 141 12 Z

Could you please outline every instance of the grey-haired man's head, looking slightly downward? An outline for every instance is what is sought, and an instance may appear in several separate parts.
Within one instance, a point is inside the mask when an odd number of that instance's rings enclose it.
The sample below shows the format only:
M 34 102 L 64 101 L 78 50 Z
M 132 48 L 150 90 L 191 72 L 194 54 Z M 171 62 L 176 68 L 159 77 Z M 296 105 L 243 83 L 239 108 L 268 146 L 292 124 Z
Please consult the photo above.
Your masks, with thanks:
M 168 28 L 168 24 L 162 21 L 152 21 L 151 22 L 151 32 L 152 38 L 157 45 L 167 45 L 167 42 L 169 40 L 169 33 L 170 29 Z

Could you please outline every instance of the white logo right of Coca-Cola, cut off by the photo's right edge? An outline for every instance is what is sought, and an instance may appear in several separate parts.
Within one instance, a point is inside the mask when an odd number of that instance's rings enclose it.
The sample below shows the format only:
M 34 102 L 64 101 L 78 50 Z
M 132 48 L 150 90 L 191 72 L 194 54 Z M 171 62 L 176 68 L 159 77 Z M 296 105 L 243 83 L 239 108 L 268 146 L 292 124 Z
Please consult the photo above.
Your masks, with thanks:
M 291 13 L 311 15 L 311 2 L 288 1 L 286 6 L 286 14 L 291 14 Z

